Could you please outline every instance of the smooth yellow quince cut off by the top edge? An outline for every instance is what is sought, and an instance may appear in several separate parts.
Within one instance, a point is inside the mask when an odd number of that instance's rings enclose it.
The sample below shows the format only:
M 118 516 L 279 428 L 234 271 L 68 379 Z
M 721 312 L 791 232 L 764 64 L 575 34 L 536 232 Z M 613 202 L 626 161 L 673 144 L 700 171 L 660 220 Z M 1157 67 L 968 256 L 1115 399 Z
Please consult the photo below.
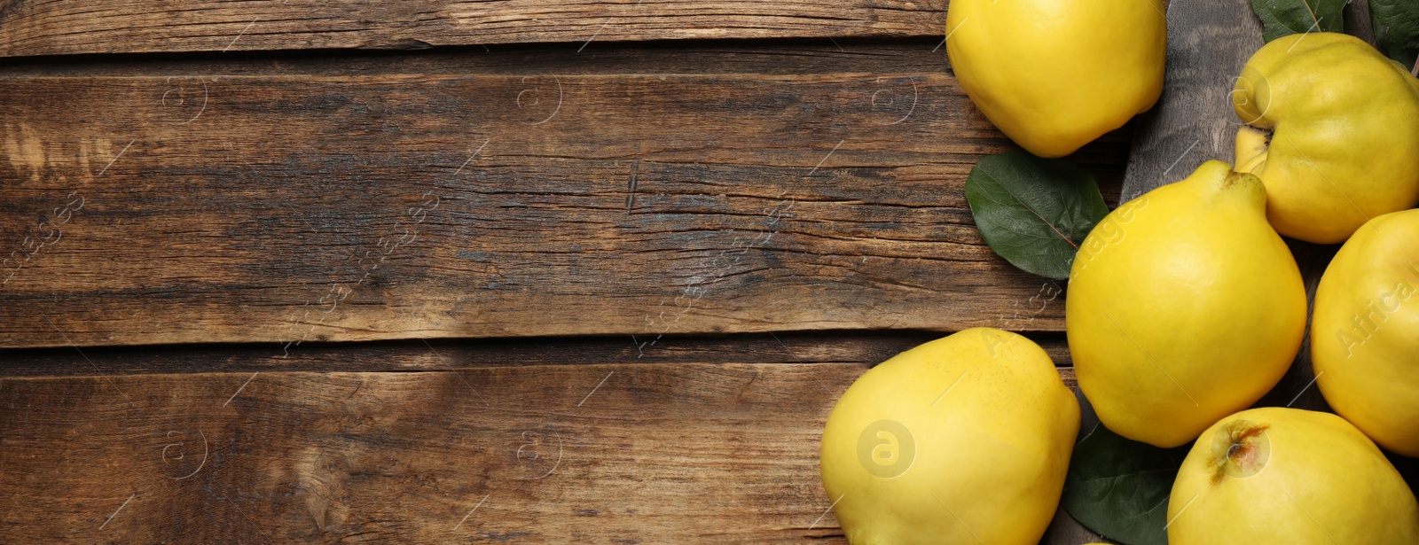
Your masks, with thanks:
M 1161 0 L 951 0 L 946 54 L 976 108 L 1042 158 L 1074 153 L 1152 108 Z

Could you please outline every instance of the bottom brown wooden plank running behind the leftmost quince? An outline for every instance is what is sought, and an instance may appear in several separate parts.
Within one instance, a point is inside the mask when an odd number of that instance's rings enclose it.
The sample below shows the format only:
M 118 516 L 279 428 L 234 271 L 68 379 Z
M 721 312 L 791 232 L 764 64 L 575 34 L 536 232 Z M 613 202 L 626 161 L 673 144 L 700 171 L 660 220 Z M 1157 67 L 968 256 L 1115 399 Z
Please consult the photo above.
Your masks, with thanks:
M 10 378 L 0 528 L 16 542 L 843 544 L 817 446 L 864 369 Z

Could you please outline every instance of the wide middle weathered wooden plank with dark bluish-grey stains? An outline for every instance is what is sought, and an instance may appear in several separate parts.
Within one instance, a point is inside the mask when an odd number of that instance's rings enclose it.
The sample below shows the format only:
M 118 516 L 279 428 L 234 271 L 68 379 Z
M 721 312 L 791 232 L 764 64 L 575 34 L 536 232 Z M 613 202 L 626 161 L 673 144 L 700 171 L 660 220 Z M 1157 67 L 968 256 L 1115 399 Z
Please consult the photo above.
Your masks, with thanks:
M 1063 326 L 944 74 L 17 78 L 0 126 L 0 346 Z

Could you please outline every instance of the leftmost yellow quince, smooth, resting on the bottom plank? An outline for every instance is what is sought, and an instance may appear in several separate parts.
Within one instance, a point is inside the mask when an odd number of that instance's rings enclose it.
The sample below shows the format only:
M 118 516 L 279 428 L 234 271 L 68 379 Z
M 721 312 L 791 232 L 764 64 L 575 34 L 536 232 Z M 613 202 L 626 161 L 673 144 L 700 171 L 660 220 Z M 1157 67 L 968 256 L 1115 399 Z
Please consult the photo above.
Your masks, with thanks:
M 843 393 L 823 429 L 823 488 L 853 545 L 1034 545 L 1077 433 L 1078 400 L 1039 345 L 966 329 Z

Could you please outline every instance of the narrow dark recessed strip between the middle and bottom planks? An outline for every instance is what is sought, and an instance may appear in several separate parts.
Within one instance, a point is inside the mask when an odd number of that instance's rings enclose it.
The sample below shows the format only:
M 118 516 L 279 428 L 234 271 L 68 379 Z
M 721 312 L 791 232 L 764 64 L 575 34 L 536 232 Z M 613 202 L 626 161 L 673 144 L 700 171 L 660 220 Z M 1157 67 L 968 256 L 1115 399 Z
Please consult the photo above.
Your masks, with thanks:
M 250 372 L 421 372 L 536 365 L 853 363 L 877 365 L 939 339 L 934 332 L 779 332 L 541 339 L 404 339 L 248 345 L 72 346 L 0 351 L 0 378 Z M 1056 366 L 1070 366 L 1063 334 L 1033 332 Z

